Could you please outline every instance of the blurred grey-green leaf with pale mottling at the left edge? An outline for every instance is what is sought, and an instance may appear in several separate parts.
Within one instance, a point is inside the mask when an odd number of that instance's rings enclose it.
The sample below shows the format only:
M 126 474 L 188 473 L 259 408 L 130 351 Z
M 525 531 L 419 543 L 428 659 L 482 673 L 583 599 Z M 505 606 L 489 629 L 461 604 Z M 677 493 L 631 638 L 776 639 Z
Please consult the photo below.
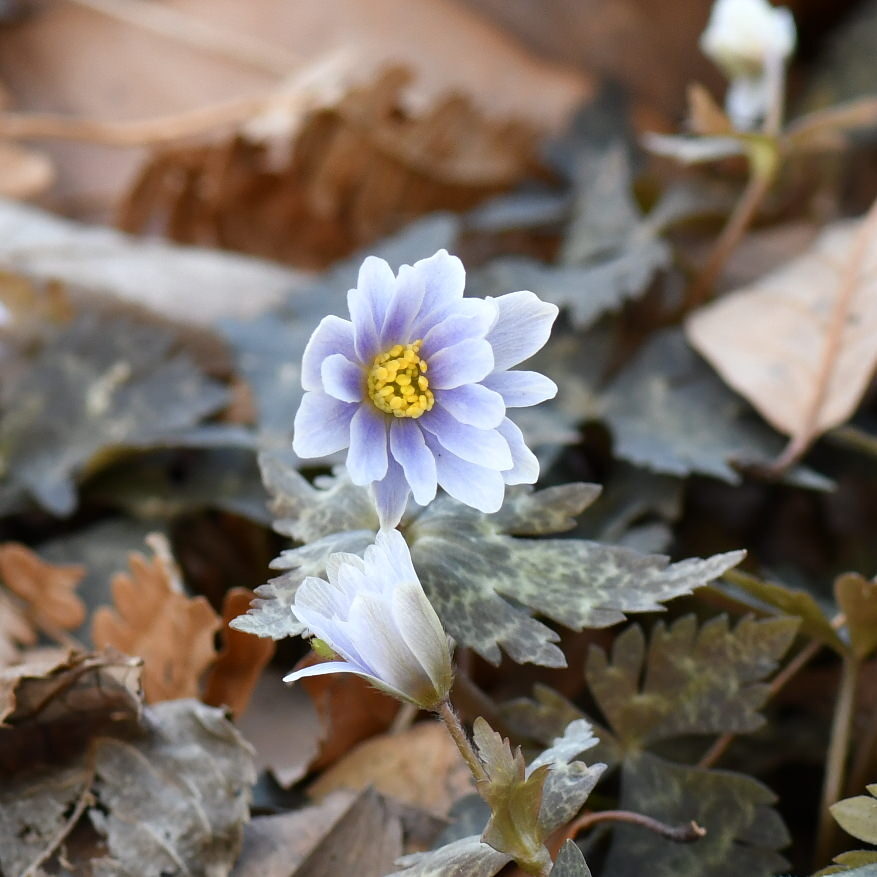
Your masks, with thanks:
M 226 401 L 166 330 L 86 313 L 3 385 L 0 471 L 69 515 L 77 476 L 119 449 L 173 444 Z

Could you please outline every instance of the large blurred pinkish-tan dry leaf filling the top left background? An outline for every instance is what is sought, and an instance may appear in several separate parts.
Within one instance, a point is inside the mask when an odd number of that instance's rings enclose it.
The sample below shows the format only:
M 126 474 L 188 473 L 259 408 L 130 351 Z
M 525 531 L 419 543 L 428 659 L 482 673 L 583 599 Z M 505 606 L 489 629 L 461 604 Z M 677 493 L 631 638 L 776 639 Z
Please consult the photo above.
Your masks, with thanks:
M 482 16 L 445 0 L 140 0 L 141 10 L 160 6 L 188 19 L 158 30 L 113 14 L 132 5 L 104 0 L 101 14 L 46 4 L 0 31 L 0 77 L 16 107 L 95 120 L 189 112 L 268 93 L 300 66 L 347 46 L 361 58 L 363 79 L 404 64 L 415 71 L 426 104 L 456 91 L 543 131 L 558 129 L 591 87 L 586 76 L 540 60 Z M 253 51 L 256 42 L 260 51 Z M 71 45 L 76 52 L 66 51 Z M 137 149 L 40 146 L 58 168 L 55 203 L 79 217 L 105 220 L 143 159 Z

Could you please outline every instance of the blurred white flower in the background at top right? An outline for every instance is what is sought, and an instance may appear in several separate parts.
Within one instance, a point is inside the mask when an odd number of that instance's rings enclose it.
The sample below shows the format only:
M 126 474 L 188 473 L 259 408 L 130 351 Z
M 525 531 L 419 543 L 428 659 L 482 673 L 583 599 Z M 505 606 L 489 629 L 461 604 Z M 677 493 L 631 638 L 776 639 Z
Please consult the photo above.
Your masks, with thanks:
M 700 47 L 730 81 L 725 109 L 739 130 L 767 115 L 795 48 L 795 20 L 767 0 L 716 0 Z

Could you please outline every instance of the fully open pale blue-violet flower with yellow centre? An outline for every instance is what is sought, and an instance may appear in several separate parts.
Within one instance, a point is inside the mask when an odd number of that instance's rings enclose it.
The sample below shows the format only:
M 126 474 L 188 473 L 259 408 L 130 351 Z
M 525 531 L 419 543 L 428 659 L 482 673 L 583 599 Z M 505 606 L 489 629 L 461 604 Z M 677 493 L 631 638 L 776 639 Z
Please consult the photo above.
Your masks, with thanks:
M 426 505 L 440 485 L 489 513 L 506 484 L 539 475 L 506 409 L 557 387 L 509 369 L 545 344 L 557 307 L 532 292 L 464 298 L 465 279 L 445 250 L 398 276 L 369 256 L 348 293 L 351 319 L 326 317 L 305 348 L 293 448 L 300 457 L 348 448 L 351 480 L 371 485 L 383 527 L 399 522 L 409 493 Z

